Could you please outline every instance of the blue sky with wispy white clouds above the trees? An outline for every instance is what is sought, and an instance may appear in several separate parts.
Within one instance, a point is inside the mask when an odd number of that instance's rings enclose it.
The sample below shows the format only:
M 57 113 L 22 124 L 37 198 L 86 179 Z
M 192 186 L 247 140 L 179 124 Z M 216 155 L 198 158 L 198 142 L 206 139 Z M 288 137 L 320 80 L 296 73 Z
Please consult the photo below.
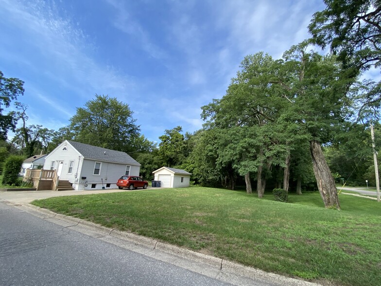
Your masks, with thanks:
M 322 0 L 0 0 L 0 71 L 25 81 L 29 125 L 58 130 L 95 94 L 126 103 L 141 133 L 202 127 L 247 54 L 309 37 Z

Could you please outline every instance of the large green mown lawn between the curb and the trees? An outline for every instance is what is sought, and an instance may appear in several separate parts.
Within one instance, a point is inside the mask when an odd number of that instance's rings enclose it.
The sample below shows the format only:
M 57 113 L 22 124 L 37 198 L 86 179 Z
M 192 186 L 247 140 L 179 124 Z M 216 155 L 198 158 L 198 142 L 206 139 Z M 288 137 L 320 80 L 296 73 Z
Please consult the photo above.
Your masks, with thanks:
M 340 195 L 289 196 L 214 188 L 54 197 L 33 204 L 122 231 L 326 285 L 381 285 L 381 205 Z

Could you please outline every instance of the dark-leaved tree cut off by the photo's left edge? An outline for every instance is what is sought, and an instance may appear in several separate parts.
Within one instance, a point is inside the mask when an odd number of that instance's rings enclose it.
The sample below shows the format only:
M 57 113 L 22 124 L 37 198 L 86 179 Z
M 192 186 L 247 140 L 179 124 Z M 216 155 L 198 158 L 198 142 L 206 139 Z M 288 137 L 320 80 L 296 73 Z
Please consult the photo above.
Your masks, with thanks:
M 0 139 L 7 138 L 8 130 L 15 130 L 16 118 L 13 112 L 3 114 L 4 107 L 9 107 L 12 100 L 24 94 L 24 82 L 18 78 L 6 78 L 0 71 Z

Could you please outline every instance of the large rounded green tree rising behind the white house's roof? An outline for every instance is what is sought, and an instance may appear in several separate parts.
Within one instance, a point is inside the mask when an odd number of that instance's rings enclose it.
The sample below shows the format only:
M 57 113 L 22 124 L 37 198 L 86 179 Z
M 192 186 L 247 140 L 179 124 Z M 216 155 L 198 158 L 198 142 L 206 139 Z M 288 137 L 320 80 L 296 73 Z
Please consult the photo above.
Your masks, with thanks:
M 85 107 L 77 107 L 76 114 L 70 118 L 70 129 L 75 141 L 134 152 L 139 150 L 134 141 L 140 135 L 140 128 L 132 114 L 128 104 L 108 95 L 96 94 Z

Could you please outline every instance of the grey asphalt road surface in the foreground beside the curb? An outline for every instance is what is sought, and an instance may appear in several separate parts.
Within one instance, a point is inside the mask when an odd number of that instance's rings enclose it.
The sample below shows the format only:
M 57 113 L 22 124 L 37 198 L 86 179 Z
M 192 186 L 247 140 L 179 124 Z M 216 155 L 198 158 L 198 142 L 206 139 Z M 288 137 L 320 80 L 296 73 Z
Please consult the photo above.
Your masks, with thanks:
M 0 285 L 231 285 L 0 202 Z

